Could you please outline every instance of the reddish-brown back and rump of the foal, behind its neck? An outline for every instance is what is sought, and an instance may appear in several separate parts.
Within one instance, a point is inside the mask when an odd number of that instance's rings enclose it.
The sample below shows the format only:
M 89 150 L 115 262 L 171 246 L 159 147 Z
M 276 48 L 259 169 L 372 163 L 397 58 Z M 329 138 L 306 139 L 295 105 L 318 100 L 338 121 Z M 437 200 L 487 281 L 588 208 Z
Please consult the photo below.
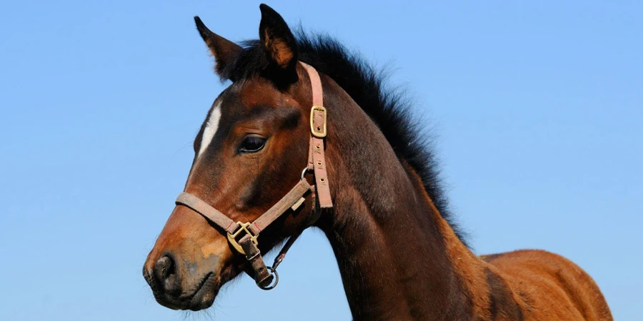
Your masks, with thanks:
M 498 280 L 489 285 L 490 295 L 510 293 L 517 302 L 518 319 L 614 320 L 596 282 L 567 258 L 544 250 L 517 250 L 481 258 L 488 263 L 488 274 Z M 499 290 L 503 287 L 509 289 Z M 505 319 L 502 313 L 498 315 L 498 320 Z

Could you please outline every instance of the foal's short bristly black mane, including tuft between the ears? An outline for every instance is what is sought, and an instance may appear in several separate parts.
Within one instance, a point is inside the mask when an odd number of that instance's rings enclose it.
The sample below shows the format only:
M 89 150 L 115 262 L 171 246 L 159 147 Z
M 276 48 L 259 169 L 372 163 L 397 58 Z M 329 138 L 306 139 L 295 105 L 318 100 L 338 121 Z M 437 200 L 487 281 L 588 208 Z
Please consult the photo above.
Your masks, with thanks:
M 299 29 L 296 41 L 299 60 L 332 78 L 367 113 L 384 133 L 397 157 L 411 165 L 422 178 L 424 189 L 434 205 L 466 244 L 449 211 L 432 142 L 412 120 L 411 103 L 401 92 L 384 85 L 385 74 L 382 71 L 373 68 L 336 39 L 311 36 Z M 236 61 L 221 71 L 220 76 L 236 81 L 264 72 L 268 66 L 259 41 L 246 41 Z

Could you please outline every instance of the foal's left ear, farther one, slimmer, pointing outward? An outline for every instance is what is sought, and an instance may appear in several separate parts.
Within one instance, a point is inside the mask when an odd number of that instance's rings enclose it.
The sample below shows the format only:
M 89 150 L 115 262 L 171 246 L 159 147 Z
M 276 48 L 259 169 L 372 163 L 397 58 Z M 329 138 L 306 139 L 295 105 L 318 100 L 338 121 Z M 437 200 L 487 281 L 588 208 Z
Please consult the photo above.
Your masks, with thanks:
M 201 38 L 206 42 L 212 56 L 214 56 L 214 62 L 216 63 L 214 70 L 219 76 L 226 78 L 224 70 L 239 55 L 242 50 L 241 46 L 210 31 L 199 16 L 194 17 L 194 22 L 196 23 L 196 30 L 199 30 Z

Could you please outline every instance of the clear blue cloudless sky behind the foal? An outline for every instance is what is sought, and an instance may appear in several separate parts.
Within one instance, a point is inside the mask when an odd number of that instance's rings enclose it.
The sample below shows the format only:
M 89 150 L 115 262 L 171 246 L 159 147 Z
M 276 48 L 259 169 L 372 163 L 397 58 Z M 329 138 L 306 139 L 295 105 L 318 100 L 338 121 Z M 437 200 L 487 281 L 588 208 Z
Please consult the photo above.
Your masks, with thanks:
M 391 64 L 392 85 L 439 134 L 476 253 L 562 254 L 617 320 L 641 320 L 640 1 L 268 4 Z M 243 275 L 209 312 L 161 307 L 143 280 L 191 142 L 227 86 L 194 15 L 231 40 L 257 37 L 252 1 L 0 4 L 1 320 L 241 320 L 249 302 L 266 320 L 350 319 L 314 230 L 279 267 L 279 287 Z

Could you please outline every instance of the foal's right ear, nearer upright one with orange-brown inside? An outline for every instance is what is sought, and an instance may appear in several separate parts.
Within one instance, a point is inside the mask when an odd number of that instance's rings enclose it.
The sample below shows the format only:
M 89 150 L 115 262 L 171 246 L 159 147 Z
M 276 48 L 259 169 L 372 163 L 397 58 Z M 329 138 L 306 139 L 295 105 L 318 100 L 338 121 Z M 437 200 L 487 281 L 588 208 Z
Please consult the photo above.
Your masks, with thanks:
M 297 44 L 290 28 L 271 7 L 261 4 L 259 9 L 261 46 L 274 66 L 296 77 Z

